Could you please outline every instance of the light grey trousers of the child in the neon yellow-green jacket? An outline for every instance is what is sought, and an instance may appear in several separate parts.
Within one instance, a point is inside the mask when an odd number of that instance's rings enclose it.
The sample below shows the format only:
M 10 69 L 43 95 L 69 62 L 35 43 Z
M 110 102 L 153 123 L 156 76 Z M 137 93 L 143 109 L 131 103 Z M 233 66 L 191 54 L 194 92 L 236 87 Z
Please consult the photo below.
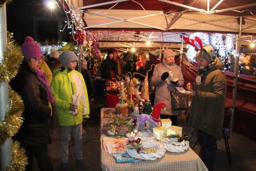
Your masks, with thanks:
M 68 143 L 71 131 L 74 135 L 76 159 L 83 159 L 82 123 L 72 126 L 61 126 L 60 151 L 62 163 L 68 163 Z

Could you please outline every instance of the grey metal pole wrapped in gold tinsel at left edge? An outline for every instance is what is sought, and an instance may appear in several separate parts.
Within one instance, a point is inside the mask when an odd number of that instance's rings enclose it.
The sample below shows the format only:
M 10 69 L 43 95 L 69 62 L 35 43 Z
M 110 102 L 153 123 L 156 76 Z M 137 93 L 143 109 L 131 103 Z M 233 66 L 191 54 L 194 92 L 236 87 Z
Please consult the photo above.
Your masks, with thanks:
M 6 24 L 6 2 L 0 6 L 0 61 L 4 60 L 4 51 L 7 48 L 7 24 Z M 0 84 L 0 121 L 9 110 L 9 85 L 6 82 Z M 1 135 L 2 136 L 2 135 Z M 12 159 L 12 138 L 8 138 L 0 150 L 0 170 L 5 170 Z

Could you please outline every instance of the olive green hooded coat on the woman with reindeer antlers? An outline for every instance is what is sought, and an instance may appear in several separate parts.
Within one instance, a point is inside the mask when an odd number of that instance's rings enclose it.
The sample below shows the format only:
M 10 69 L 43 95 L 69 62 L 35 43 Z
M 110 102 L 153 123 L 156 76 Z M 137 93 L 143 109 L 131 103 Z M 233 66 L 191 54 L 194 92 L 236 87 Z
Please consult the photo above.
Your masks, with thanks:
M 224 65 L 216 57 L 214 66 L 206 73 L 202 84 L 194 82 L 196 95 L 192 97 L 188 124 L 221 139 L 226 102 Z

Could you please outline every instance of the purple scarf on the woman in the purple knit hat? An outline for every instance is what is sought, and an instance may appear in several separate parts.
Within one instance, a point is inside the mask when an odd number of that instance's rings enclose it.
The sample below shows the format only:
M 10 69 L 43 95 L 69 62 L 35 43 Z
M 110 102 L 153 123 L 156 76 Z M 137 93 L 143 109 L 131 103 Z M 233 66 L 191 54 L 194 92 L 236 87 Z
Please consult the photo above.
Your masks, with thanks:
M 36 73 L 37 78 L 39 81 L 44 85 L 46 88 L 47 96 L 48 96 L 48 101 L 52 104 L 55 102 L 55 99 L 52 97 L 52 91 L 50 89 L 50 85 L 46 79 L 45 73 L 42 70 L 37 70 L 35 69 L 34 72 Z

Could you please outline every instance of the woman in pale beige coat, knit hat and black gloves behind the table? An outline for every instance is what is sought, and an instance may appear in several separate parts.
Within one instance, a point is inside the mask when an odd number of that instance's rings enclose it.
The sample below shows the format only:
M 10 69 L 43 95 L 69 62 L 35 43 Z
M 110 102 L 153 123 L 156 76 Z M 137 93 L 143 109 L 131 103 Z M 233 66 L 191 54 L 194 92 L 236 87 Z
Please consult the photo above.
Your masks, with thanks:
M 163 62 L 156 64 L 154 68 L 151 84 L 156 87 L 154 105 L 159 102 L 164 102 L 166 104 L 166 110 L 161 109 L 160 111 L 160 118 L 170 118 L 172 125 L 177 126 L 177 115 L 179 111 L 172 110 L 170 92 L 175 91 L 175 87 L 183 87 L 184 79 L 180 66 L 175 64 L 174 56 L 174 52 L 170 49 L 167 49 L 164 52 Z M 172 72 L 173 78 L 179 78 L 179 80 L 170 82 L 168 79 L 169 72 Z

